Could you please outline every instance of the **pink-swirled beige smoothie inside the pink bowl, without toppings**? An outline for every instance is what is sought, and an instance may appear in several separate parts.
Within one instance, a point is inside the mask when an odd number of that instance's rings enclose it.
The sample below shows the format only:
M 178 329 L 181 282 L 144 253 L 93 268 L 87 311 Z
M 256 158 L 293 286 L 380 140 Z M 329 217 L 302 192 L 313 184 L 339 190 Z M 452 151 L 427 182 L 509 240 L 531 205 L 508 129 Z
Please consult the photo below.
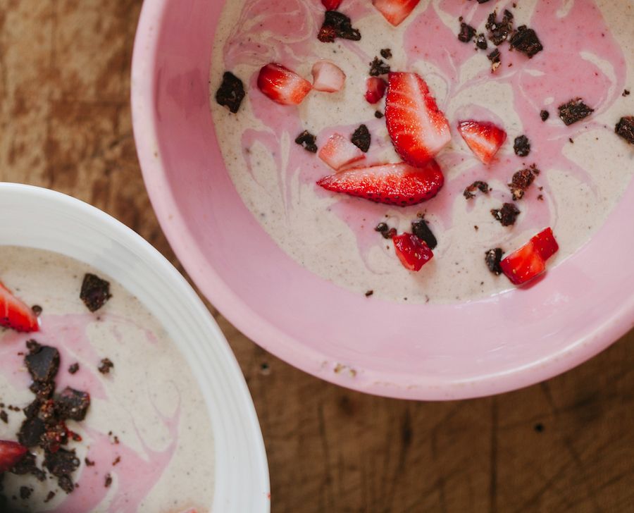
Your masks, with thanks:
M 532 59 L 502 50 L 502 66 L 491 72 L 485 51 L 459 42 L 462 16 L 478 32 L 489 13 L 512 9 L 515 26 L 533 27 L 544 51 Z M 371 1 L 344 0 L 339 9 L 361 32 L 359 42 L 318 41 L 324 9 L 318 0 L 226 2 L 218 23 L 211 66 L 211 111 L 228 172 L 244 204 L 263 229 L 299 264 L 359 294 L 409 302 L 464 302 L 511 288 L 484 263 L 488 249 L 517 249 L 551 226 L 561 250 L 554 264 L 582 247 L 606 221 L 634 173 L 634 146 L 617 137 L 615 123 L 634 113 L 634 2 L 421 1 L 401 25 L 392 27 Z M 489 51 L 495 47 L 489 42 Z M 397 208 L 321 190 L 316 181 L 333 171 L 295 137 L 302 130 L 317 144 L 333 132 L 349 136 L 368 126 L 367 164 L 397 162 L 383 112 L 384 101 L 363 97 L 369 63 L 390 49 L 394 71 L 419 73 L 452 126 L 452 142 L 437 156 L 446 183 L 435 199 Z M 329 59 L 347 75 L 341 92 L 313 91 L 298 107 L 278 106 L 255 86 L 261 66 L 278 62 L 310 80 L 311 67 Z M 229 70 L 244 81 L 247 96 L 237 114 L 216 104 L 214 94 Z M 557 106 L 583 97 L 595 112 L 567 127 Z M 540 112 L 547 110 L 543 121 Z M 484 166 L 456 133 L 459 120 L 495 121 L 508 140 L 497 161 Z M 514 154 L 513 141 L 527 135 L 528 157 Z M 491 215 L 511 200 L 516 171 L 535 164 L 541 173 L 513 227 Z M 474 180 L 492 192 L 463 196 Z M 374 232 L 385 221 L 399 233 L 424 214 L 437 237 L 435 258 L 420 273 L 399 265 L 391 241 Z

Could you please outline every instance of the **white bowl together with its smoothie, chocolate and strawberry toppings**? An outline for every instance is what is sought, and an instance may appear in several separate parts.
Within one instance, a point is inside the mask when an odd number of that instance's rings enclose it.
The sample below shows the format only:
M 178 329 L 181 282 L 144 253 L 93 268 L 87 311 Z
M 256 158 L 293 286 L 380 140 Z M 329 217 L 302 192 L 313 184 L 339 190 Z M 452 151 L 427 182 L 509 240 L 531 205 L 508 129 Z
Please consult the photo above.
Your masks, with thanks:
M 0 509 L 268 511 L 247 386 L 178 271 L 63 194 L 0 204 Z

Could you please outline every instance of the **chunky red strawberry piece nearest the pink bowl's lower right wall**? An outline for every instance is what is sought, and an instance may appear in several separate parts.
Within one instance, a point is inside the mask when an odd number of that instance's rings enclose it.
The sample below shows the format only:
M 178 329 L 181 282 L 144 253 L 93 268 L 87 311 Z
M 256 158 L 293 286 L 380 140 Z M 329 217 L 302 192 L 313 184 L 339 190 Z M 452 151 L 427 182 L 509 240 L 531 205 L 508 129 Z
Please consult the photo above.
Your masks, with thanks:
M 552 230 L 535 235 L 528 244 L 509 254 L 502 262 L 502 272 L 514 285 L 523 285 L 546 270 L 546 261 L 559 250 Z

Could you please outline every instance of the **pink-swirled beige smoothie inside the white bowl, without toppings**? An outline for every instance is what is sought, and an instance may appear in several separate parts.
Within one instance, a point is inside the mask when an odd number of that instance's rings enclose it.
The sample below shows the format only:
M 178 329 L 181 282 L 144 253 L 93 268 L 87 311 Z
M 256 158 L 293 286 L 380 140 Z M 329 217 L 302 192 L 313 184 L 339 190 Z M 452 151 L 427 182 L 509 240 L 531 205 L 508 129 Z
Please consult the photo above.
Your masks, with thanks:
M 86 273 L 110 283 L 111 299 L 94 313 L 80 299 Z M 70 386 L 91 396 L 85 420 L 68 421 L 81 438 L 65 447 L 80 461 L 76 488 L 67 494 L 50 474 L 41 482 L 6 472 L 0 494 L 11 511 L 208 512 L 214 482 L 209 414 L 159 319 L 116 281 L 60 254 L 0 247 L 0 279 L 26 304 L 42 307 L 39 332 L 0 328 L 0 410 L 8 414 L 0 421 L 0 440 L 16 440 L 25 420 L 21 409 L 34 400 L 26 340 L 60 352 L 56 390 Z M 108 373 L 98 370 L 102 359 L 113 363 Z M 78 370 L 71 373 L 73 364 Z M 30 450 L 41 466 L 42 450 Z M 27 498 L 22 488 L 30 490 Z

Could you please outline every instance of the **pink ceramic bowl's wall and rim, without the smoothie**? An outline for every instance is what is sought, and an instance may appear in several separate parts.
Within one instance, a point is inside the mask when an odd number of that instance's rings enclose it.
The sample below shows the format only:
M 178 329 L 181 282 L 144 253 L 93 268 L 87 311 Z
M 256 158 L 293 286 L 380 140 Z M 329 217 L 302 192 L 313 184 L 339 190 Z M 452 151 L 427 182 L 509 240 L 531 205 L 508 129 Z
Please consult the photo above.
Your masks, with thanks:
M 216 142 L 208 78 L 223 4 L 144 3 L 132 109 L 163 230 L 204 294 L 251 339 L 339 385 L 449 400 L 545 380 L 633 327 L 634 187 L 592 242 L 538 286 L 483 301 L 368 301 L 287 257 L 242 204 Z

